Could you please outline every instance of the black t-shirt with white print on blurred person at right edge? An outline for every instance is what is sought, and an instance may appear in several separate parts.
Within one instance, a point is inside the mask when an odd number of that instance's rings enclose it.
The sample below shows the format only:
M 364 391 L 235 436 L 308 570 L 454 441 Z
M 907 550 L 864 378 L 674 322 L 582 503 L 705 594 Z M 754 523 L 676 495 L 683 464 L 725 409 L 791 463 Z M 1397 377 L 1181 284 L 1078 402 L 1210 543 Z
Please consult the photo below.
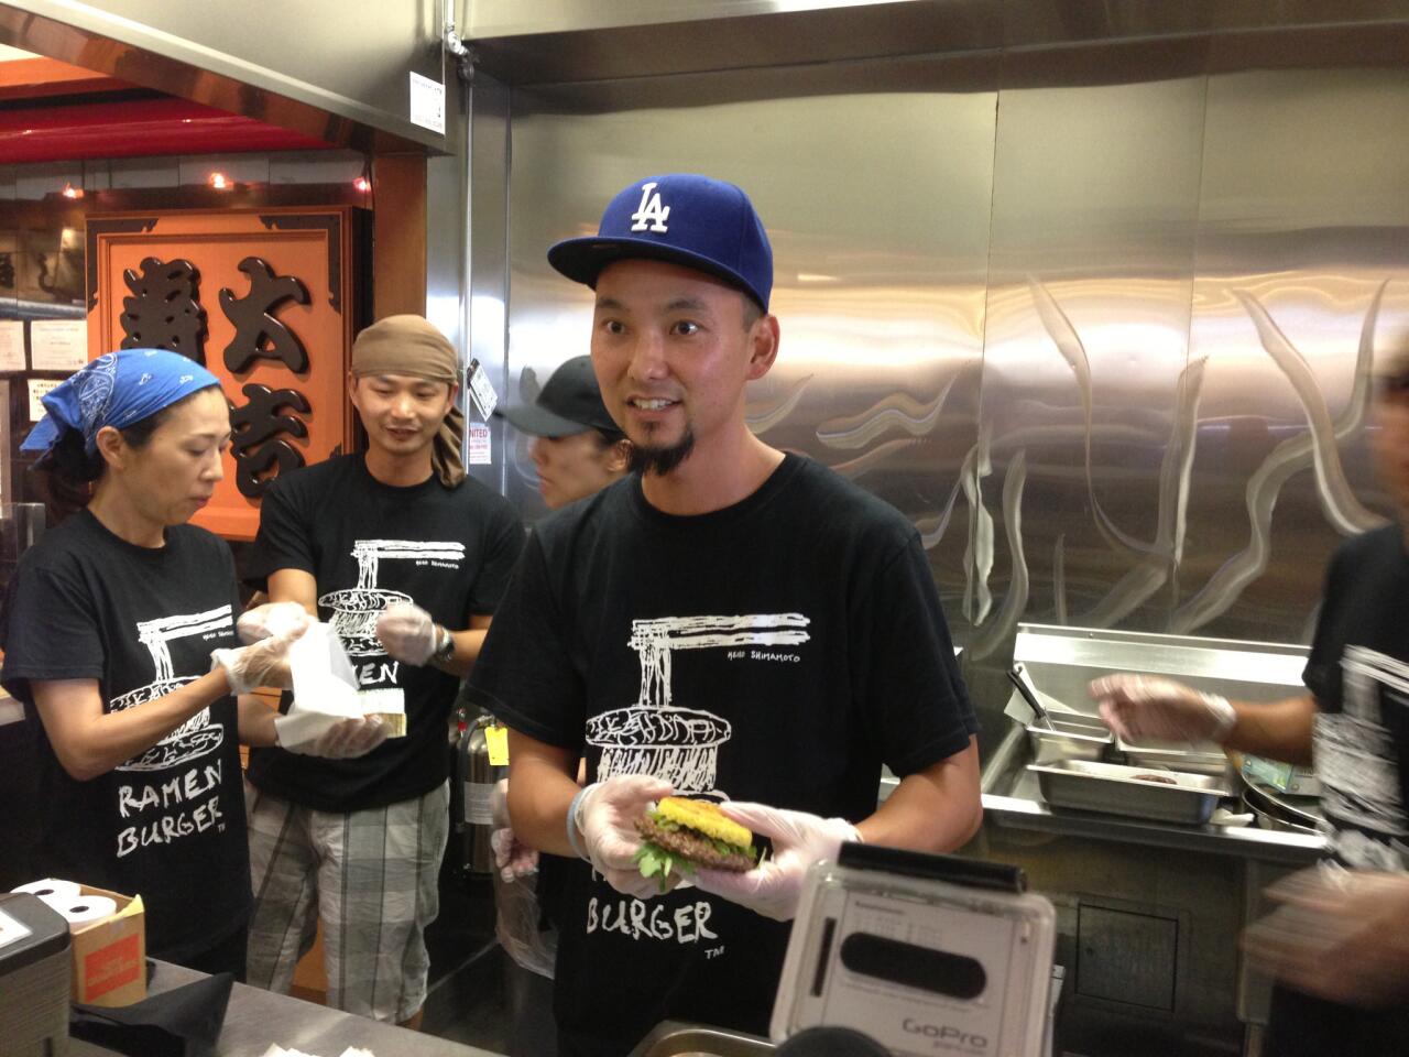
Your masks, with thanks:
M 1303 674 L 1330 854 L 1361 870 L 1409 868 L 1409 554 L 1398 524 L 1332 558 Z M 1270 1057 L 1402 1054 L 1409 1008 L 1357 1009 L 1278 988 Z

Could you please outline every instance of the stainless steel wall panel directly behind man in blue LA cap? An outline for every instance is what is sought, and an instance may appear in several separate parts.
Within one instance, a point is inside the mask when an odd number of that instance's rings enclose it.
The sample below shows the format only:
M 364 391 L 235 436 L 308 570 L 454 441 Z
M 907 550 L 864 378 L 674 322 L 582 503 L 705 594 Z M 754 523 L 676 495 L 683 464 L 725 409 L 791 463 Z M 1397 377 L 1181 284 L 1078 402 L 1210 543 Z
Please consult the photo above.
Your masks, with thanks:
M 731 179 L 768 224 L 783 334 L 778 365 L 750 392 L 751 426 L 910 516 L 957 602 L 996 73 L 996 62 L 931 59 L 766 70 L 743 89 L 740 75 L 516 89 L 510 399 L 526 397 L 526 368 L 535 385 L 588 348 L 590 293 L 548 268 L 551 242 L 593 231 L 640 176 Z M 510 497 L 541 510 L 526 448 L 511 452 Z

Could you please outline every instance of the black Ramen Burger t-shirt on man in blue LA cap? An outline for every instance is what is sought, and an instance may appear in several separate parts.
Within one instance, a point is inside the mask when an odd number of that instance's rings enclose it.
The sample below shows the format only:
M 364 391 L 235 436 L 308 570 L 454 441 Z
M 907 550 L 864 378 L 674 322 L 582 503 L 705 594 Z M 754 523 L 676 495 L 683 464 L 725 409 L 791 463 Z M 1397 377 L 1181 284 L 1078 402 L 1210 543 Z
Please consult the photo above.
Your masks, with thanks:
M 975 730 L 914 528 L 795 455 L 714 513 L 661 513 L 631 476 L 544 520 L 471 685 L 510 727 L 581 750 L 592 781 L 654 774 L 851 820 L 875 812 L 882 762 L 924 769 Z M 626 1053 L 669 1016 L 766 1029 L 788 925 L 555 865 L 568 1053 Z

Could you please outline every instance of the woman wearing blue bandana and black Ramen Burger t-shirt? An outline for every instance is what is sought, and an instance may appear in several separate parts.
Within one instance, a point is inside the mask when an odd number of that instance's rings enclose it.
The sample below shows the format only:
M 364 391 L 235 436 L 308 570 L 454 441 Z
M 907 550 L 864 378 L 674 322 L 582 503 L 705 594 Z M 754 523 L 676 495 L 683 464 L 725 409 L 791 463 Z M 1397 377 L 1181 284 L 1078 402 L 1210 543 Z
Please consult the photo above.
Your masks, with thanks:
M 224 475 L 230 407 L 213 373 L 162 350 L 110 352 L 44 406 L 21 448 L 44 452 L 51 505 L 76 512 L 24 555 L 0 614 L 0 681 L 38 723 L 31 868 L 139 894 L 151 956 L 242 977 L 238 743 L 272 746 L 276 729 L 238 695 L 287 681 L 306 620 L 241 645 L 230 548 L 186 524 Z M 348 724 L 320 748 L 385 736 Z

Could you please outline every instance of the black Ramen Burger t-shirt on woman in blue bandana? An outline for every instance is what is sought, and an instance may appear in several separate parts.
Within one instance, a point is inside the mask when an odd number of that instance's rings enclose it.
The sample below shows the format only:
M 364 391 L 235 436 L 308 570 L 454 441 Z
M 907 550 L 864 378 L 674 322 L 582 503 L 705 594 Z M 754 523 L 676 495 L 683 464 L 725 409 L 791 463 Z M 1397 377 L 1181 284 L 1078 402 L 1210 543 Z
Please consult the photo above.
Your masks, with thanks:
M 244 927 L 249 912 L 234 698 L 79 782 L 44 736 L 30 684 L 97 679 L 104 712 L 139 707 L 209 672 L 211 650 L 240 645 L 235 613 L 234 561 L 220 538 L 176 526 L 165 547 L 137 547 L 82 510 L 21 558 L 0 619 L 4 686 L 39 740 L 32 870 L 139 894 L 148 951 L 175 961 Z

